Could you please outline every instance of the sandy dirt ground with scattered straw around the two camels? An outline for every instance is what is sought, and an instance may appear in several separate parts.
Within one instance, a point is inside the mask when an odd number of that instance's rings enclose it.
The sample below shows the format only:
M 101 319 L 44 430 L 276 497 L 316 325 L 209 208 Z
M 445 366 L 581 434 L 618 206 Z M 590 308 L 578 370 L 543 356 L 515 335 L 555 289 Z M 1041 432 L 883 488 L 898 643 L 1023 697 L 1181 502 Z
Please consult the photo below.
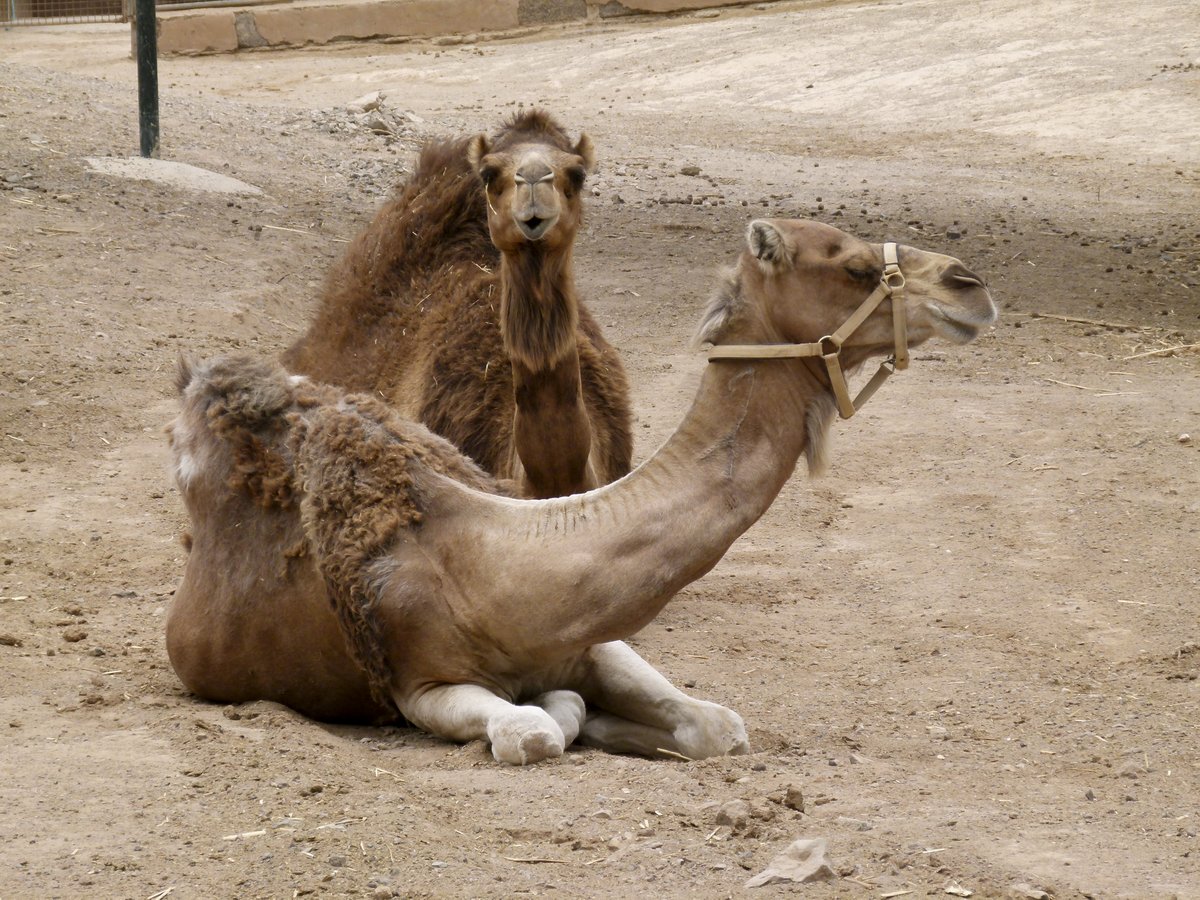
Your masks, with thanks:
M 136 155 L 128 48 L 0 32 L 0 898 L 1200 896 L 1193 0 L 163 60 L 163 158 L 257 194 L 85 162 Z M 637 460 L 752 217 L 953 253 L 1001 307 L 634 638 L 745 718 L 749 756 L 506 768 L 206 704 L 167 660 L 176 358 L 288 346 L 420 142 L 522 104 L 599 149 L 577 269 Z M 832 880 L 745 887 L 800 838 Z

